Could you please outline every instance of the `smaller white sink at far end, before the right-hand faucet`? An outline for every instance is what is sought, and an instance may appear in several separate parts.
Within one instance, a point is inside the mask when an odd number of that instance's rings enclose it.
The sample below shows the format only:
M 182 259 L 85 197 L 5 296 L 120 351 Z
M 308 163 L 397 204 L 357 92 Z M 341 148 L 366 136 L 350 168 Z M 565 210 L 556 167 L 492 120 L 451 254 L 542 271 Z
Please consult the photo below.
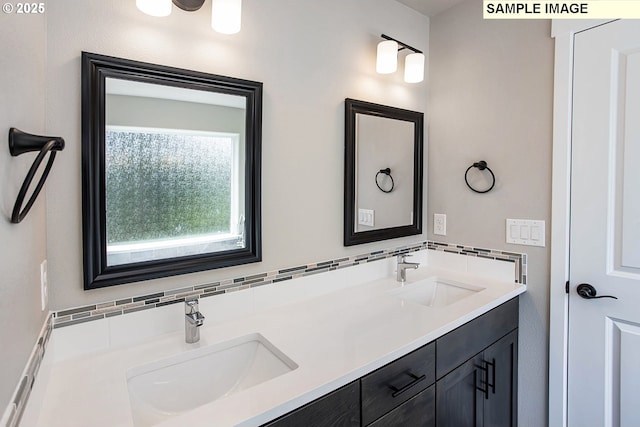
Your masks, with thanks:
M 388 293 L 427 307 L 446 307 L 484 289 L 467 283 L 429 277 Z

